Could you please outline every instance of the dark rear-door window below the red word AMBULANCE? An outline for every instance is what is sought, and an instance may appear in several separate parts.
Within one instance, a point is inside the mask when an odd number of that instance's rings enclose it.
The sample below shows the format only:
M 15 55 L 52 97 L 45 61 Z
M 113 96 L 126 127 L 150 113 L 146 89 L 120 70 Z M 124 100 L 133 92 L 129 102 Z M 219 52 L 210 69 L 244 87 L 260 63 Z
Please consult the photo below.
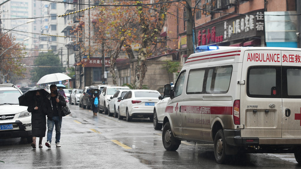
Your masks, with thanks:
M 281 98 L 281 67 L 250 67 L 247 74 L 247 95 Z

